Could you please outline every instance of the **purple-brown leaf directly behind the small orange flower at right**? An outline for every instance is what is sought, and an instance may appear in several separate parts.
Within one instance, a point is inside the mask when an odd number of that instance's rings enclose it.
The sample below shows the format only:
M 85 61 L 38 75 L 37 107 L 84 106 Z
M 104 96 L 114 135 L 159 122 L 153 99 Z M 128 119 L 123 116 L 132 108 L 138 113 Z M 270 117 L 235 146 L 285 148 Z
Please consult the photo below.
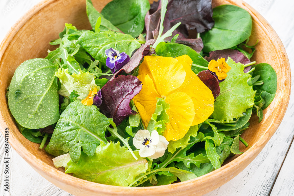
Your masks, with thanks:
M 242 63 L 242 64 L 248 64 L 250 63 L 250 60 L 240 51 L 238 50 L 232 50 L 232 49 L 226 49 L 226 50 L 216 50 L 209 53 L 209 57 L 204 57 L 208 62 L 211 60 L 218 60 L 219 58 L 225 58 L 225 60 L 228 59 L 228 56 L 233 59 L 236 63 Z M 251 69 L 251 66 L 245 67 L 244 72 L 248 72 Z

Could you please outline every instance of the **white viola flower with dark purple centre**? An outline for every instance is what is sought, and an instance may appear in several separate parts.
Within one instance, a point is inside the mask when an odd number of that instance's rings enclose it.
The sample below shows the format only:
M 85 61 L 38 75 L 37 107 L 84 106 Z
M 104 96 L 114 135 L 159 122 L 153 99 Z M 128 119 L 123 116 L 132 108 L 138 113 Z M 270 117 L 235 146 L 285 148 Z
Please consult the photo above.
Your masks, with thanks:
M 133 145 L 139 149 L 141 157 L 157 159 L 164 155 L 168 141 L 162 135 L 158 135 L 156 130 L 153 130 L 150 135 L 150 132 L 144 129 L 138 130 L 133 138 Z

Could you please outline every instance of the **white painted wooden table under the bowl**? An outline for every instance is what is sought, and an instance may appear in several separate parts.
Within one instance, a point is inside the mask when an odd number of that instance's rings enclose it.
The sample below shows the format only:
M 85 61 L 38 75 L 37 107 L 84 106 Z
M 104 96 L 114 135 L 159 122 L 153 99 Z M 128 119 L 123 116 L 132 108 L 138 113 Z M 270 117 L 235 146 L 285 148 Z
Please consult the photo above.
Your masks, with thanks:
M 0 41 L 11 26 L 41 0 L 0 1 Z M 294 1 L 245 0 L 273 26 L 284 43 L 294 70 Z M 292 72 L 292 76 L 294 76 Z M 293 83 L 293 77 L 292 77 Z M 239 175 L 222 187 L 206 194 L 213 195 L 294 195 L 294 98 L 280 127 L 262 152 Z M 0 142 L 4 138 L 0 134 Z M 293 145 L 291 145 L 293 143 Z M 4 145 L 0 145 L 0 195 L 58 195 L 71 194 L 54 186 L 32 169 L 12 148 L 10 151 L 10 192 L 4 193 Z

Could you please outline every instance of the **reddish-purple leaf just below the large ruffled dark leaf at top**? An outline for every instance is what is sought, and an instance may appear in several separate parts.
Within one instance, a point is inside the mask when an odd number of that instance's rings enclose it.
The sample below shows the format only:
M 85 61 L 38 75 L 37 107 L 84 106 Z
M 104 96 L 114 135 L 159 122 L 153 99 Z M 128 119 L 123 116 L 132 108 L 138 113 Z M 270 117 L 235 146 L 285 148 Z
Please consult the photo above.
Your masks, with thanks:
M 178 32 L 177 30 L 173 31 L 173 36 L 175 36 L 176 34 L 179 34 L 178 39 L 176 40 L 176 43 L 181 43 L 186 46 L 189 46 L 190 48 L 192 48 L 193 50 L 195 50 L 198 53 L 200 53 L 202 51 L 203 41 L 201 38 L 188 39 L 188 38 L 185 38 L 185 36 L 182 33 Z M 173 36 L 165 38 L 164 41 L 171 41 Z

